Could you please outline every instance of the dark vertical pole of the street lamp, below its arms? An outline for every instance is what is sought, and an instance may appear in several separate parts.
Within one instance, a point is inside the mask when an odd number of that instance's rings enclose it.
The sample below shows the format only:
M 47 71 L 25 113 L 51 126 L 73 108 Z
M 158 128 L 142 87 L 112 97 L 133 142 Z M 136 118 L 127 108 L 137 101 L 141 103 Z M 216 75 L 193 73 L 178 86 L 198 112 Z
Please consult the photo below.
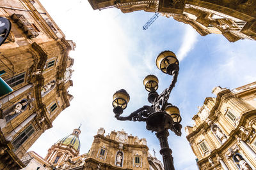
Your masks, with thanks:
M 156 137 L 157 139 L 159 139 L 159 143 L 161 146 L 160 154 L 163 157 L 164 170 L 175 170 L 173 166 L 172 150 L 169 148 L 168 145 L 168 136 L 168 130 L 156 132 Z

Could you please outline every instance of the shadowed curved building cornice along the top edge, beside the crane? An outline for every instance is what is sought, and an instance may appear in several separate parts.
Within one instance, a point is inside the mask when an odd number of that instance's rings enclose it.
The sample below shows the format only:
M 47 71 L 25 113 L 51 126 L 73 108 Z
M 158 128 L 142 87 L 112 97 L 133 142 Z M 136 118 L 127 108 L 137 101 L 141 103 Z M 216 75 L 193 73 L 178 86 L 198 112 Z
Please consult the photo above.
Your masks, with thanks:
M 191 25 L 201 36 L 222 34 L 230 42 L 256 39 L 255 0 L 88 0 L 93 10 L 144 10 Z

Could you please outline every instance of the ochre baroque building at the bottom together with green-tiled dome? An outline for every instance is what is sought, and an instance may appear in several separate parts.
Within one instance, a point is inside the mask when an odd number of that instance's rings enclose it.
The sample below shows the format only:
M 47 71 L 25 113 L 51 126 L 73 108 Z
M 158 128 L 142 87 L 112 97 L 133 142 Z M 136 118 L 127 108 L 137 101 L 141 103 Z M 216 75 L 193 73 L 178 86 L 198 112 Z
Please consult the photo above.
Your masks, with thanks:
M 31 167 L 58 170 L 164 169 L 161 161 L 148 152 L 145 138 L 128 135 L 124 130 L 112 131 L 105 136 L 105 130 L 101 127 L 94 136 L 89 152 L 79 155 L 80 132 L 79 128 L 74 129 L 72 134 L 52 145 L 45 159 L 31 152 L 36 159 L 30 161 L 24 170 Z

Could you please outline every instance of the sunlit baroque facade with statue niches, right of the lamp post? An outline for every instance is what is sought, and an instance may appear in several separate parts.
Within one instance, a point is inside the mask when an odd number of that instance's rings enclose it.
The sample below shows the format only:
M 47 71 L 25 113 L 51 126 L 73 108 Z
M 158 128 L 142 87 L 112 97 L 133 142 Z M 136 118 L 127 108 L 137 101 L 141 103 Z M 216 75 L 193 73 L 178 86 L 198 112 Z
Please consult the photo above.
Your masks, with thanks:
M 256 81 L 212 93 L 185 129 L 199 169 L 255 169 Z

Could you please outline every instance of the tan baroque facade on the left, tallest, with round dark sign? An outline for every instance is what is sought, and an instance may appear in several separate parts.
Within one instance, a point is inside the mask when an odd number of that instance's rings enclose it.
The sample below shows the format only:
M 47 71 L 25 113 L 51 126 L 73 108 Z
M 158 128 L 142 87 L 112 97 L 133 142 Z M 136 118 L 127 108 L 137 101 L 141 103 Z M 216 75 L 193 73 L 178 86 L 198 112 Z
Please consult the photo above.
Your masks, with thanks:
M 0 17 L 12 24 L 0 46 L 0 71 L 13 89 L 0 96 L 0 169 L 20 169 L 28 148 L 70 106 L 68 52 L 76 45 L 38 0 L 0 1 Z

